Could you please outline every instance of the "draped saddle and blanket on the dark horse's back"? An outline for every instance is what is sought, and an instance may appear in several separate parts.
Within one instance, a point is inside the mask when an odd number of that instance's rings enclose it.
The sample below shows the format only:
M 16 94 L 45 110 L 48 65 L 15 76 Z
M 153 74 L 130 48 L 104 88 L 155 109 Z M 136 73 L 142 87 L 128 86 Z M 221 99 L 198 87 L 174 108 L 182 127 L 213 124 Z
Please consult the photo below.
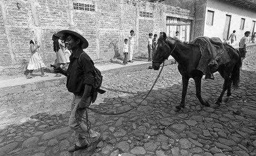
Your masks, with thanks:
M 205 79 L 214 80 L 213 73 L 218 70 L 218 67 L 230 61 L 228 51 L 218 37 L 200 36 L 193 43 L 199 46 L 201 51 L 201 58 L 197 69 L 205 74 Z

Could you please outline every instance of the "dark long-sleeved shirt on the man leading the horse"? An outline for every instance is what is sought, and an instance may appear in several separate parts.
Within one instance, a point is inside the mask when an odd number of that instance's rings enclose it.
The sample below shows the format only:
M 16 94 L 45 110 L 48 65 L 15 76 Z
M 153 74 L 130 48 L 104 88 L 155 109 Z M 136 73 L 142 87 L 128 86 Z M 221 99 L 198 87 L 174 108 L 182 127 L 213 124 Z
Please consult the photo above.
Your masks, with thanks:
M 82 49 L 78 49 L 70 56 L 70 64 L 67 70 L 67 89 L 75 95 L 82 96 L 86 84 L 94 84 L 94 63 Z M 82 54 L 82 55 L 81 55 Z M 79 56 L 80 60 L 78 63 Z

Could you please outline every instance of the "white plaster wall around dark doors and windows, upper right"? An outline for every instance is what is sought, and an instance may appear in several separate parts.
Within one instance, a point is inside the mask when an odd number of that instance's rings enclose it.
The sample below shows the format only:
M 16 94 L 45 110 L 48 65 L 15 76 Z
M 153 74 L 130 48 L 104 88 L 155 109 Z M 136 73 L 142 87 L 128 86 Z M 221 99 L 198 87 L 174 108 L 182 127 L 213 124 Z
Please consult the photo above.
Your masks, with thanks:
M 207 25 L 207 10 L 214 11 L 213 25 Z M 245 8 L 239 8 L 231 3 L 220 0 L 207 0 L 204 24 L 204 36 L 219 37 L 224 42 L 224 27 L 226 15 L 231 15 L 229 35 L 236 30 L 237 42 L 244 36 L 246 31 L 251 31 L 252 20 L 256 21 L 256 12 Z M 240 30 L 241 18 L 245 18 L 244 30 Z M 256 25 L 254 28 L 256 31 Z M 252 32 L 251 32 L 252 34 Z M 230 42 L 230 41 L 227 41 Z

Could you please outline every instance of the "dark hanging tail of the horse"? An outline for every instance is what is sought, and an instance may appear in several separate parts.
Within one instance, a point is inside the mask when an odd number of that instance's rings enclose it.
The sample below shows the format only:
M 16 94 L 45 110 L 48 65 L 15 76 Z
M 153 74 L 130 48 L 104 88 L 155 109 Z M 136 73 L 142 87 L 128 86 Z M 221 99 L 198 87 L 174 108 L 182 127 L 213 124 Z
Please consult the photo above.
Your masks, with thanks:
M 239 82 L 240 82 L 240 68 L 242 66 L 242 61 L 241 61 L 241 54 L 240 54 L 240 51 L 237 50 L 237 53 L 239 55 L 239 60 L 238 62 L 236 63 L 236 65 L 234 66 L 233 70 L 232 70 L 232 73 L 231 73 L 231 81 L 232 81 L 232 87 L 234 89 L 238 89 L 239 87 Z

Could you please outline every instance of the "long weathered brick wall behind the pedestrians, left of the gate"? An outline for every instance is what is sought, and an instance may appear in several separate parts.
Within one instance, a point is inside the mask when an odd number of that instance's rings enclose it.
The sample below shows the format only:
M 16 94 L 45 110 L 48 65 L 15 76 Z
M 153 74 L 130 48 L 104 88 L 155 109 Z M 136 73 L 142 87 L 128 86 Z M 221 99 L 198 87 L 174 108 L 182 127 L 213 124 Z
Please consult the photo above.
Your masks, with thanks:
M 178 0 L 177 0 L 178 1 Z M 93 60 L 110 60 L 122 55 L 122 46 L 134 30 L 134 56 L 147 56 L 148 33 L 164 30 L 164 10 L 151 5 L 144 11 L 153 12 L 148 20 L 139 16 L 141 8 L 123 0 L 0 0 L 0 68 L 25 67 L 28 63 L 29 41 L 35 36 L 39 54 L 49 66 L 54 63 L 52 35 L 59 30 L 78 29 L 89 41 L 85 51 Z M 75 10 L 74 3 L 91 4 L 94 11 Z

